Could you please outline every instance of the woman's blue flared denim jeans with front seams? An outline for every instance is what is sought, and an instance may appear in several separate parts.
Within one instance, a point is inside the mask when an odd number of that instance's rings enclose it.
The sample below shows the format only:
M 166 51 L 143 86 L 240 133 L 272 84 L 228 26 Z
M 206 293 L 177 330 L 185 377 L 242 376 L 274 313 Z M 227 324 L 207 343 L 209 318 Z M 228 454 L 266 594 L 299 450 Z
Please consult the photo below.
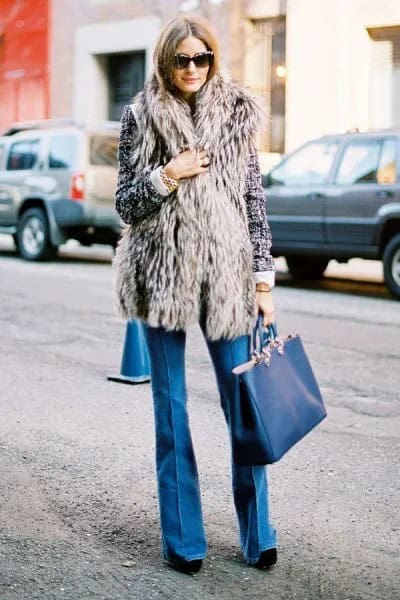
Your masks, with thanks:
M 204 333 L 204 326 L 200 325 Z M 207 542 L 186 408 L 186 333 L 147 325 L 144 330 L 151 365 L 163 556 L 184 560 L 204 558 Z M 230 398 L 239 393 L 232 369 L 248 360 L 250 338 L 218 341 L 205 338 L 229 425 Z M 232 464 L 232 486 L 241 549 L 245 560 L 253 564 L 263 550 L 276 546 L 276 532 L 269 521 L 265 467 Z

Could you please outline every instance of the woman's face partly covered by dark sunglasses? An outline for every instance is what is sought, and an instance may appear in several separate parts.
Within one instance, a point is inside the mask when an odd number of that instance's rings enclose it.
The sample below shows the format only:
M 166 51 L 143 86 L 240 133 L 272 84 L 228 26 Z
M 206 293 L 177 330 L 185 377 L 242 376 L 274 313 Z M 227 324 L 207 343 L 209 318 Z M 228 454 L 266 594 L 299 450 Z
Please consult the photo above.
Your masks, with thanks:
M 205 44 L 198 38 L 190 36 L 180 42 L 175 54 L 184 54 L 188 57 L 193 57 L 203 52 L 207 52 Z M 193 61 L 186 68 L 175 68 L 173 70 L 172 78 L 174 85 L 185 100 L 189 100 L 205 84 L 209 70 L 209 64 L 196 67 Z

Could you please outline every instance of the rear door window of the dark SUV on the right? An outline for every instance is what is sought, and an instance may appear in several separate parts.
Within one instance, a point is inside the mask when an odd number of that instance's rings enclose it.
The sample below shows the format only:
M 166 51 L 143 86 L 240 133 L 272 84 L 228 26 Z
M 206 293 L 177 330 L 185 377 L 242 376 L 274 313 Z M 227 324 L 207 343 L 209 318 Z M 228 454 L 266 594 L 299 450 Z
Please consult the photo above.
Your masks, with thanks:
M 378 177 L 380 140 L 354 140 L 343 153 L 336 183 L 353 185 L 355 183 L 376 183 Z

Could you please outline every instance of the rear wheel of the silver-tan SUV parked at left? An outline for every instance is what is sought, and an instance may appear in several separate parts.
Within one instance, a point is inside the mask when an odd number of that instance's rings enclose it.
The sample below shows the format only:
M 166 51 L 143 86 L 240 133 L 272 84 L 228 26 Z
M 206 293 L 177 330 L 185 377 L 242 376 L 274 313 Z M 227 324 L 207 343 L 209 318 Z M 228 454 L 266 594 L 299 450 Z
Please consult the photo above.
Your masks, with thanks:
M 25 260 L 48 260 L 57 253 L 50 243 L 49 225 L 44 211 L 30 208 L 18 224 L 18 250 Z

